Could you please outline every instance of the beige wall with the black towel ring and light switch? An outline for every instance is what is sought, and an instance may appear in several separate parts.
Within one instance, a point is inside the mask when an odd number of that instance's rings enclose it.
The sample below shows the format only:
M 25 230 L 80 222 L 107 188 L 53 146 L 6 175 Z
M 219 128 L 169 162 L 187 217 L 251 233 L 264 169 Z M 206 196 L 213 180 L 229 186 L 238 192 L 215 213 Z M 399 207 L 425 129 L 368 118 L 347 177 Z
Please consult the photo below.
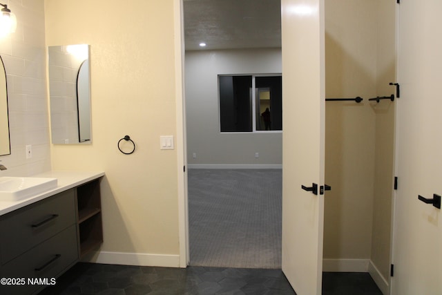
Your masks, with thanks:
M 177 135 L 173 0 L 45 5 L 47 46 L 90 44 L 92 144 L 52 145 L 52 169 L 105 171 L 102 251 L 177 256 L 177 153 L 160 151 Z

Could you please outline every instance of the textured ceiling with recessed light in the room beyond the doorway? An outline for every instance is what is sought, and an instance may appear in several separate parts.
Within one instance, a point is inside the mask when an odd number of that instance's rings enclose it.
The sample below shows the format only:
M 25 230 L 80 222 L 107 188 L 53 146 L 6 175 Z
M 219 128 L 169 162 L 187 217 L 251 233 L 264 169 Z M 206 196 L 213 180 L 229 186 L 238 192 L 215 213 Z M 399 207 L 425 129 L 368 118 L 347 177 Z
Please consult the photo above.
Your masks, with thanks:
M 280 0 L 184 0 L 186 50 L 280 48 Z

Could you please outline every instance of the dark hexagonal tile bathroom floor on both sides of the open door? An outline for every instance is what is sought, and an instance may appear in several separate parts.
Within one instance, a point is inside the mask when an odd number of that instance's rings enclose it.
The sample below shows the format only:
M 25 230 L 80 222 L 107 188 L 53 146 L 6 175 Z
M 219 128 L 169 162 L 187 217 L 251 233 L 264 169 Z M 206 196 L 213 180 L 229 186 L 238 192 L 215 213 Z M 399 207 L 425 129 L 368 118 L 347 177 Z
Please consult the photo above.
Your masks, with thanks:
M 57 278 L 57 285 L 40 295 L 53 294 L 295 294 L 280 269 L 222 267 L 138 267 L 77 263 Z M 365 273 L 325 273 L 323 294 L 382 294 Z

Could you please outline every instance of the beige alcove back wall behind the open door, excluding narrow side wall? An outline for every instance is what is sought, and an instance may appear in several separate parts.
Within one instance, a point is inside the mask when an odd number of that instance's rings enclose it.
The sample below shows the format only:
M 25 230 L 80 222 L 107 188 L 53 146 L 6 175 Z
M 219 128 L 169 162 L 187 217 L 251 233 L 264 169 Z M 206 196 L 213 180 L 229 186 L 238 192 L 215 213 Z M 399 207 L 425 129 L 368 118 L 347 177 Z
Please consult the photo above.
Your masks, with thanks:
M 325 132 L 324 258 L 367 259 L 372 243 L 376 116 L 374 1 L 325 3 L 326 97 L 364 98 L 327 102 Z

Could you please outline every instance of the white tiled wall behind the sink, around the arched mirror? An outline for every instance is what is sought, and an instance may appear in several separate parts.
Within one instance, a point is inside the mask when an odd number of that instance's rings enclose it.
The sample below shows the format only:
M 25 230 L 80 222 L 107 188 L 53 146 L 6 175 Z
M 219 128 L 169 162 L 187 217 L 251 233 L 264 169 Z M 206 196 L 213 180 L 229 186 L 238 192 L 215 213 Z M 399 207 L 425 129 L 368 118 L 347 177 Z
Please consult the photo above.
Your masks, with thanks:
M 17 30 L 0 39 L 6 68 L 11 155 L 1 156 L 4 175 L 32 175 L 50 170 L 44 0 L 10 0 Z M 26 159 L 26 145 L 32 158 Z

